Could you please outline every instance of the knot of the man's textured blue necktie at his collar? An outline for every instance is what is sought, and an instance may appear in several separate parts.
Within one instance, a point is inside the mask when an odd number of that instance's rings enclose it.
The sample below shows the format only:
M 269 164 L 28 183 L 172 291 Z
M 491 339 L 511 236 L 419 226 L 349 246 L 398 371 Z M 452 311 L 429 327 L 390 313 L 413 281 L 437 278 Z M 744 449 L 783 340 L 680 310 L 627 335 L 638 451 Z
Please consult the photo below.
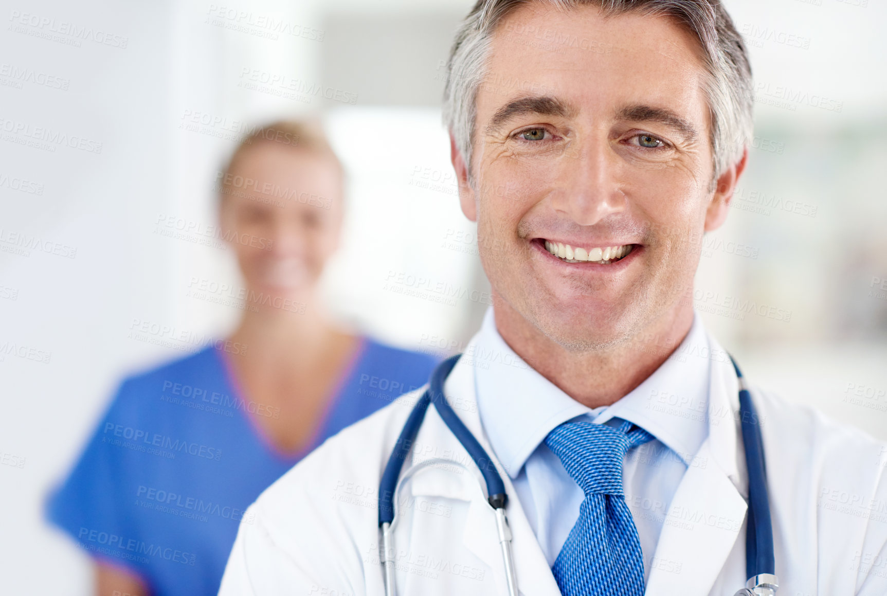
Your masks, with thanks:
M 586 497 L 622 497 L 625 452 L 653 438 L 647 431 L 633 426 L 627 420 L 619 427 L 586 420 L 565 422 L 546 436 L 546 445 L 561 459 L 564 469 Z

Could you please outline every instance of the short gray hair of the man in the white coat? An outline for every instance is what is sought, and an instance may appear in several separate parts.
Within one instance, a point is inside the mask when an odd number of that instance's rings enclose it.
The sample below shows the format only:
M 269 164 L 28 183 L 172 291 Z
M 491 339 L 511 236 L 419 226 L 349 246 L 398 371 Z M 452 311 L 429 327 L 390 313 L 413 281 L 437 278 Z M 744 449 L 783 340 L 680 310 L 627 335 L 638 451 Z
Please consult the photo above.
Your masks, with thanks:
M 664 16 L 695 35 L 708 73 L 705 93 L 715 178 L 739 161 L 752 131 L 751 67 L 742 37 L 718 0 L 478 0 L 456 32 L 443 90 L 443 122 L 465 159 L 469 181 L 475 100 L 486 76 L 491 37 L 508 14 L 533 3 L 561 9 L 598 6 L 605 16 L 625 12 Z

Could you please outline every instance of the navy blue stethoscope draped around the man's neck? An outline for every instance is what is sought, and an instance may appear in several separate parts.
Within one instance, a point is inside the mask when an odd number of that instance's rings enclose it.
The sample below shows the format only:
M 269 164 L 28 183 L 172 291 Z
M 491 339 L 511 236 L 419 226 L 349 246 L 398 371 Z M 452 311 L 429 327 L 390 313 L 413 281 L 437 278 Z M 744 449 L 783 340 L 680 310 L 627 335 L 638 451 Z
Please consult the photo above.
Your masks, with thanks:
M 511 549 L 511 529 L 508 528 L 508 518 L 505 514 L 508 501 L 505 482 L 502 482 L 502 477 L 493 465 L 491 457 L 484 451 L 481 443 L 477 442 L 475 435 L 472 435 L 471 431 L 459 419 L 456 412 L 453 412 L 450 404 L 446 401 L 446 396 L 443 395 L 443 381 L 456 365 L 459 356 L 461 355 L 447 358 L 437 365 L 435 371 L 431 373 L 428 389 L 422 394 L 410 412 L 410 416 L 406 419 L 404 428 L 397 437 L 394 451 L 391 452 L 391 457 L 382 473 L 379 485 L 379 527 L 383 550 L 380 559 L 383 566 L 385 596 L 396 596 L 394 526 L 398 491 L 420 467 L 442 462 L 463 467 L 455 461 L 432 459 L 413 467 L 404 474 L 403 478 L 400 478 L 404 459 L 409 455 L 410 446 L 419 433 L 419 427 L 422 425 L 422 420 L 425 419 L 425 412 L 428 412 L 428 404 L 432 403 L 435 404 L 437 413 L 450 428 L 451 433 L 456 436 L 456 439 L 483 474 L 487 485 L 486 494 L 490 495 L 487 501 L 496 513 L 498 542 L 505 566 L 508 596 L 518 596 L 517 577 L 514 573 L 514 557 Z M 761 439 L 757 412 L 754 404 L 751 403 L 749 389 L 745 385 L 739 366 L 736 365 L 732 357 L 730 360 L 733 362 L 736 378 L 739 380 L 742 443 L 745 444 L 745 462 L 749 469 L 749 523 L 745 533 L 745 571 L 749 580 L 745 587 L 736 592 L 734 596 L 773 596 L 779 587 L 779 579 L 775 575 L 773 560 L 773 525 L 770 520 L 770 505 L 767 497 L 764 443 Z

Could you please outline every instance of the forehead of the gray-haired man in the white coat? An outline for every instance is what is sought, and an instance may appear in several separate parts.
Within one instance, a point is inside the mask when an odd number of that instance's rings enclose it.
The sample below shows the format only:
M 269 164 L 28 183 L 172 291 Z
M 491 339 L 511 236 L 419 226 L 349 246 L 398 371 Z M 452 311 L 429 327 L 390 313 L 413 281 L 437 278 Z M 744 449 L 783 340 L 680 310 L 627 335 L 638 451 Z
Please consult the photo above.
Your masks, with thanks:
M 591 96 L 615 118 L 664 120 L 697 104 L 704 73 L 698 41 L 664 17 L 530 3 L 498 24 L 478 98 L 491 128 L 531 110 L 575 117 Z

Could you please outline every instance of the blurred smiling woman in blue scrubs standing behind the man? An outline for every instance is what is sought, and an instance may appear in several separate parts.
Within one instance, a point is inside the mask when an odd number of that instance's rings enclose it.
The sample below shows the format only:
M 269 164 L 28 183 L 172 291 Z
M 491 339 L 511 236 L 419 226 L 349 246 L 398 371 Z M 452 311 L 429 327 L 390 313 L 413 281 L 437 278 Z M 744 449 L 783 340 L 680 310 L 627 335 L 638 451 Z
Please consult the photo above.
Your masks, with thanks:
M 93 557 L 102 596 L 216 594 L 262 490 L 328 436 L 423 385 L 435 364 L 328 318 L 318 279 L 339 244 L 344 188 L 318 130 L 256 130 L 219 182 L 221 231 L 245 280 L 239 326 L 124 380 L 49 503 L 51 520 Z M 374 506 L 373 494 L 329 489 Z

